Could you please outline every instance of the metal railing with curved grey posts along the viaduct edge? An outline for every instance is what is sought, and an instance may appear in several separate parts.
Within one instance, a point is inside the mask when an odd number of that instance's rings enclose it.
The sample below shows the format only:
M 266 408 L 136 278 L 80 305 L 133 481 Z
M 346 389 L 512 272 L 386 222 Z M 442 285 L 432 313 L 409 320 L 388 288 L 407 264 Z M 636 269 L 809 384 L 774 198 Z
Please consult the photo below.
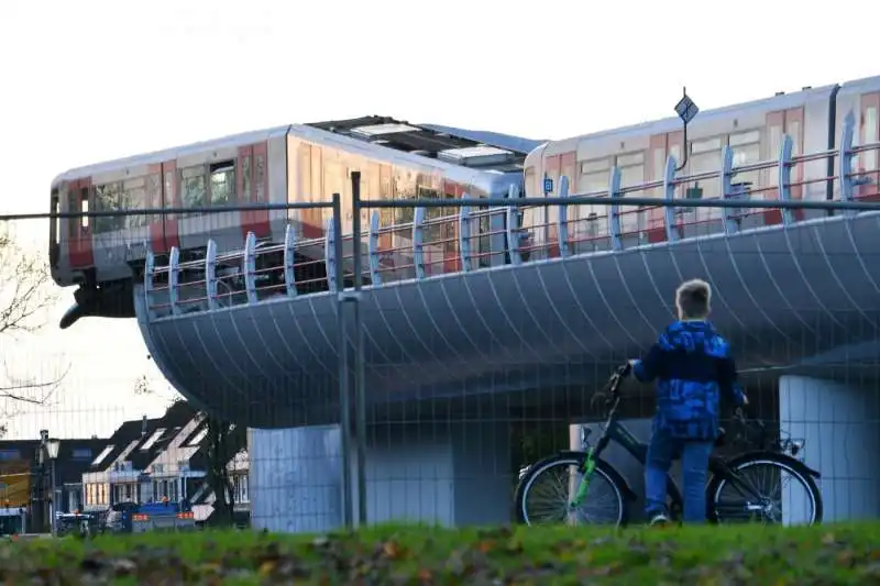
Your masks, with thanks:
M 875 209 L 857 200 L 878 194 L 878 169 L 857 172 L 853 164 L 859 154 L 880 150 L 880 143 L 856 146 L 854 136 L 855 117 L 850 113 L 837 148 L 795 156 L 794 142 L 785 135 L 776 159 L 735 166 L 735 150 L 724 146 L 719 169 L 689 176 L 676 175 L 678 162 L 670 156 L 662 179 L 634 186 L 622 185 L 622 172 L 614 167 L 606 189 L 582 195 L 570 194 L 569 178 L 563 176 L 556 197 L 520 197 L 518 188 L 512 186 L 505 199 L 474 199 L 465 194 L 458 200 L 360 201 L 352 218 L 353 232 L 358 234 L 361 208 L 415 209 L 413 221 L 391 225 L 381 225 L 381 213 L 374 209 L 366 234 L 361 236 L 366 241 L 364 258 L 360 237 L 355 242 L 353 234 L 338 236 L 338 218 L 326 223 L 320 239 L 299 239 L 296 226 L 289 224 L 283 243 L 260 243 L 250 233 L 243 248 L 220 252 L 209 241 L 199 259 L 183 261 L 180 250 L 174 247 L 167 265 L 157 266 L 156 257 L 147 252 L 146 307 L 151 319 L 161 319 L 314 291 L 341 292 L 351 287 L 341 283 L 348 279 L 358 285 L 381 286 L 713 233 L 733 235 L 772 224 L 784 226 L 810 219 L 811 211 L 827 215 L 834 211 Z M 814 162 L 825 162 L 823 168 L 834 162 L 836 173 L 801 174 L 804 178 L 794 178 L 795 169 Z M 767 178 L 766 185 L 735 180 L 755 173 Z M 360 174 L 352 175 L 358 177 L 356 181 L 353 177 L 353 189 L 359 190 Z M 686 186 L 704 181 L 714 181 L 716 196 L 676 198 Z M 857 195 L 859 186 L 866 186 L 870 194 Z M 811 189 L 834 195 L 833 200 L 824 196 L 822 200 L 811 198 Z M 637 196 L 658 191 L 660 197 Z M 585 206 L 601 207 L 606 212 L 581 218 Z M 448 207 L 458 207 L 458 213 L 428 218 L 429 209 Z M 520 215 L 526 221 L 520 221 Z M 323 257 L 316 258 L 321 248 Z

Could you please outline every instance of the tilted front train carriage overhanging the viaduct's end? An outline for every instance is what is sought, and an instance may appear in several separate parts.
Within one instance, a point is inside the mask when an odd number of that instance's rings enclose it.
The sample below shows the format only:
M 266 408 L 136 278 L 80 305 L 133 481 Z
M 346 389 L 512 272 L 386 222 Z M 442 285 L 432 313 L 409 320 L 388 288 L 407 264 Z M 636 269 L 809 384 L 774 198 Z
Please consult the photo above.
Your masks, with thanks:
M 241 248 L 248 233 L 262 245 L 283 243 L 288 224 L 296 225 L 299 237 L 317 240 L 332 213 L 327 208 L 208 213 L 205 208 L 327 202 L 339 194 L 345 233 L 351 232 L 353 170 L 361 172 L 364 199 L 506 197 L 512 187 L 521 189 L 526 155 L 521 147 L 493 146 L 371 115 L 278 126 L 68 170 L 52 183 L 53 213 L 202 211 L 52 222 L 52 277 L 59 286 L 78 287 L 61 327 L 86 316 L 134 317 L 133 284 L 142 278 L 147 248 L 162 258 L 176 247 L 182 261 L 193 261 L 204 257 L 209 240 L 220 250 Z M 408 217 L 411 210 L 383 212 L 384 223 Z M 369 223 L 365 214 L 363 221 Z M 454 232 L 455 225 L 447 229 Z M 446 269 L 454 270 L 455 234 L 444 235 L 441 254 Z M 393 234 L 383 236 L 380 245 L 391 247 Z M 320 257 L 323 247 L 316 245 L 312 253 Z M 272 255 L 263 262 L 282 264 Z

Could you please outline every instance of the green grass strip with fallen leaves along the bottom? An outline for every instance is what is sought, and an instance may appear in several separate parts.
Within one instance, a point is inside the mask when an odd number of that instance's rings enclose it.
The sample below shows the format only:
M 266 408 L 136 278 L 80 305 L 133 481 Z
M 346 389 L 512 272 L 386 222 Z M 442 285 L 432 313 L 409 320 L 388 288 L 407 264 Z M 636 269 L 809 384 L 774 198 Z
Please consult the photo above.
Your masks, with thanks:
M 0 545 L 3 584 L 880 584 L 880 523 L 812 528 L 383 526 Z

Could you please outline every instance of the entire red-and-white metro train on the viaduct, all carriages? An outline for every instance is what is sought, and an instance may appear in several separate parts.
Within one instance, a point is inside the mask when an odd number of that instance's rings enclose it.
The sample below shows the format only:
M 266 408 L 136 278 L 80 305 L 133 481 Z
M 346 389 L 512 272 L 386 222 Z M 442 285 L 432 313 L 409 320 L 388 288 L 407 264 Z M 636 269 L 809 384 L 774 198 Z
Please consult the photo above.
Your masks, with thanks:
M 51 187 L 51 211 L 205 208 L 235 203 L 329 201 L 342 197 L 343 232 L 351 231 L 351 172 L 361 172 L 362 197 L 497 198 L 518 194 L 548 195 L 559 189 L 560 177 L 571 192 L 600 194 L 608 188 L 609 170 L 619 169 L 622 186 L 639 186 L 663 177 L 670 155 L 684 163 L 682 175 L 717 172 L 722 148 L 729 146 L 734 165 L 741 167 L 779 156 L 782 137 L 792 139 L 793 153 L 833 150 L 845 117 L 856 118 L 856 142 L 880 139 L 880 76 L 794 92 L 736 106 L 706 110 L 688 128 L 686 146 L 681 120 L 659 121 L 547 141 L 534 148 L 516 148 L 410 124 L 388 117 L 296 124 L 240 134 L 158 153 L 73 169 L 56 177 Z M 877 151 L 857 155 L 861 174 L 857 197 L 878 197 Z M 837 185 L 834 159 L 811 161 L 793 169 L 793 198 L 833 199 Z M 752 198 L 774 199 L 777 176 L 767 170 L 736 173 L 736 185 Z M 682 197 L 717 197 L 715 183 L 693 181 L 678 188 Z M 660 188 L 635 195 L 660 197 Z M 602 208 L 602 209 L 600 209 Z M 694 210 L 691 210 L 693 212 Z M 406 224 L 411 211 L 383 210 L 382 224 Z M 442 212 L 440 212 L 442 213 Z M 447 212 L 449 213 L 449 212 Z M 528 258 L 559 255 L 557 208 L 527 208 L 518 229 L 529 243 Z M 714 212 L 705 213 L 718 213 Z M 284 242 L 287 224 L 304 239 L 319 239 L 328 209 L 167 213 L 160 215 L 81 217 L 53 222 L 50 228 L 52 276 L 61 286 L 78 286 L 76 303 L 62 319 L 69 327 L 85 316 L 134 316 L 133 283 L 142 278 L 147 247 L 167 255 L 177 247 L 180 257 L 204 257 L 208 240 L 220 250 L 241 248 L 248 233 L 262 243 Z M 604 207 L 573 206 L 569 211 L 574 252 L 608 246 Z M 781 222 L 777 210 L 761 210 L 759 224 Z M 362 225 L 369 225 L 362 218 Z M 506 222 L 506 214 L 497 214 Z M 494 221 L 494 220 L 493 220 Z M 664 240 L 660 207 L 629 210 L 623 232 L 644 243 Z M 483 226 L 490 232 L 488 226 Z M 491 232 L 503 232 L 492 226 Z M 457 230 L 449 222 L 441 251 L 443 269 L 458 270 Z M 506 240 L 488 239 L 490 265 L 510 262 Z M 389 235 L 378 247 L 391 248 Z M 322 254 L 316 246 L 315 256 Z M 266 262 L 273 262 L 267 259 Z M 282 266 L 274 259 L 274 266 Z M 297 281 L 300 279 L 297 278 Z M 302 279 L 311 280 L 311 279 Z

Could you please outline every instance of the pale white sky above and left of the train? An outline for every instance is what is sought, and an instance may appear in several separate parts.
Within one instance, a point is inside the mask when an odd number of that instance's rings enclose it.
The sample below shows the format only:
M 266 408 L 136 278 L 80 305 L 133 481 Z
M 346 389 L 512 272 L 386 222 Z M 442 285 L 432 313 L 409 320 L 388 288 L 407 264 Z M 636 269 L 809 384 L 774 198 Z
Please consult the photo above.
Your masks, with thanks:
M 52 178 L 86 164 L 296 122 L 385 114 L 564 139 L 880 74 L 880 3 L 789 0 L 3 0 L 0 213 L 48 210 Z M 47 223 L 20 222 L 45 254 Z M 133 320 L 57 328 L 0 357 L 52 376 L 53 401 L 11 436 L 107 435 L 174 395 Z M 11 356 L 11 358 L 10 358 Z M 157 391 L 134 396 L 146 375 Z

